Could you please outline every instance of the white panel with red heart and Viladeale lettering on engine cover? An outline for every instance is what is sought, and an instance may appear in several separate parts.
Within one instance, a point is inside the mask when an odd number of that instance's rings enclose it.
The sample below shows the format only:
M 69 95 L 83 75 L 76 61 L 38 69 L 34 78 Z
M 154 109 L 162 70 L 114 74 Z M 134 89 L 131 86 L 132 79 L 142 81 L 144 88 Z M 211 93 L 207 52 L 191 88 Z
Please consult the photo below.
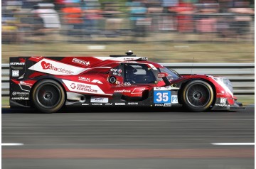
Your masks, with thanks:
M 53 75 L 78 75 L 80 72 L 87 70 L 85 68 L 56 62 L 54 60 L 48 60 L 46 58 L 40 60 L 28 69 L 36 70 L 38 72 L 46 72 Z

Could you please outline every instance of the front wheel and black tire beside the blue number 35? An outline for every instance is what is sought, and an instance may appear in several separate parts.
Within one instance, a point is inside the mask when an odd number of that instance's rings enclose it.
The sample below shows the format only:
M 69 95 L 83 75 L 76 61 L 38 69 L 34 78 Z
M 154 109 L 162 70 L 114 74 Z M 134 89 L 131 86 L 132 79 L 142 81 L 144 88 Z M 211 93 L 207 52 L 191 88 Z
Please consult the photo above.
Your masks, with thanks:
M 213 104 L 213 88 L 203 80 L 188 82 L 182 91 L 183 106 L 190 111 L 206 111 Z

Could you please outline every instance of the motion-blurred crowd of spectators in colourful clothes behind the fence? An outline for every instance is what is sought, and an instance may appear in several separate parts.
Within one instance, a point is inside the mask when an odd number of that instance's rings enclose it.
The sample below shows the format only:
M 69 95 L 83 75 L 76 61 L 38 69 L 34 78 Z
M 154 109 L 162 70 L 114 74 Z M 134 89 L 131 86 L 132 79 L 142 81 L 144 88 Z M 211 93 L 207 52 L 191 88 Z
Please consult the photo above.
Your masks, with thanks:
M 146 40 L 153 34 L 178 41 L 232 38 L 252 43 L 254 4 L 253 0 L 2 0 L 2 43 Z

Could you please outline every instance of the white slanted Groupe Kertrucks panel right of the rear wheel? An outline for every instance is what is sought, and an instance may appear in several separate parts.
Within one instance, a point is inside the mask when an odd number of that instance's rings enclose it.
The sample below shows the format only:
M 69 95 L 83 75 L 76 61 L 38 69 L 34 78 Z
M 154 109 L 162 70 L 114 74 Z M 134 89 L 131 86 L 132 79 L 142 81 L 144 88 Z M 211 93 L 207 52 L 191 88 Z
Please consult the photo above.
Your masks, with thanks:
M 73 82 L 70 80 L 63 80 L 64 84 L 72 92 L 82 92 L 82 93 L 94 93 L 94 94 L 105 94 L 105 92 L 94 84 L 85 84 L 80 82 Z M 112 95 L 112 94 L 107 94 Z

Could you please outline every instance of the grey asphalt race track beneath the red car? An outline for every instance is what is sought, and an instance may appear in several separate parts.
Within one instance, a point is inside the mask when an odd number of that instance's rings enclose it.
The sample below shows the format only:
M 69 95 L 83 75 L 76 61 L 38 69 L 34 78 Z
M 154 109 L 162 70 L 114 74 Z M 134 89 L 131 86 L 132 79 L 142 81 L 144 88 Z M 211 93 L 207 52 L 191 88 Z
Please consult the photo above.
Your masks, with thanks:
M 254 106 L 203 113 L 122 107 L 34 112 L 2 108 L 2 168 L 247 169 L 255 165 Z

